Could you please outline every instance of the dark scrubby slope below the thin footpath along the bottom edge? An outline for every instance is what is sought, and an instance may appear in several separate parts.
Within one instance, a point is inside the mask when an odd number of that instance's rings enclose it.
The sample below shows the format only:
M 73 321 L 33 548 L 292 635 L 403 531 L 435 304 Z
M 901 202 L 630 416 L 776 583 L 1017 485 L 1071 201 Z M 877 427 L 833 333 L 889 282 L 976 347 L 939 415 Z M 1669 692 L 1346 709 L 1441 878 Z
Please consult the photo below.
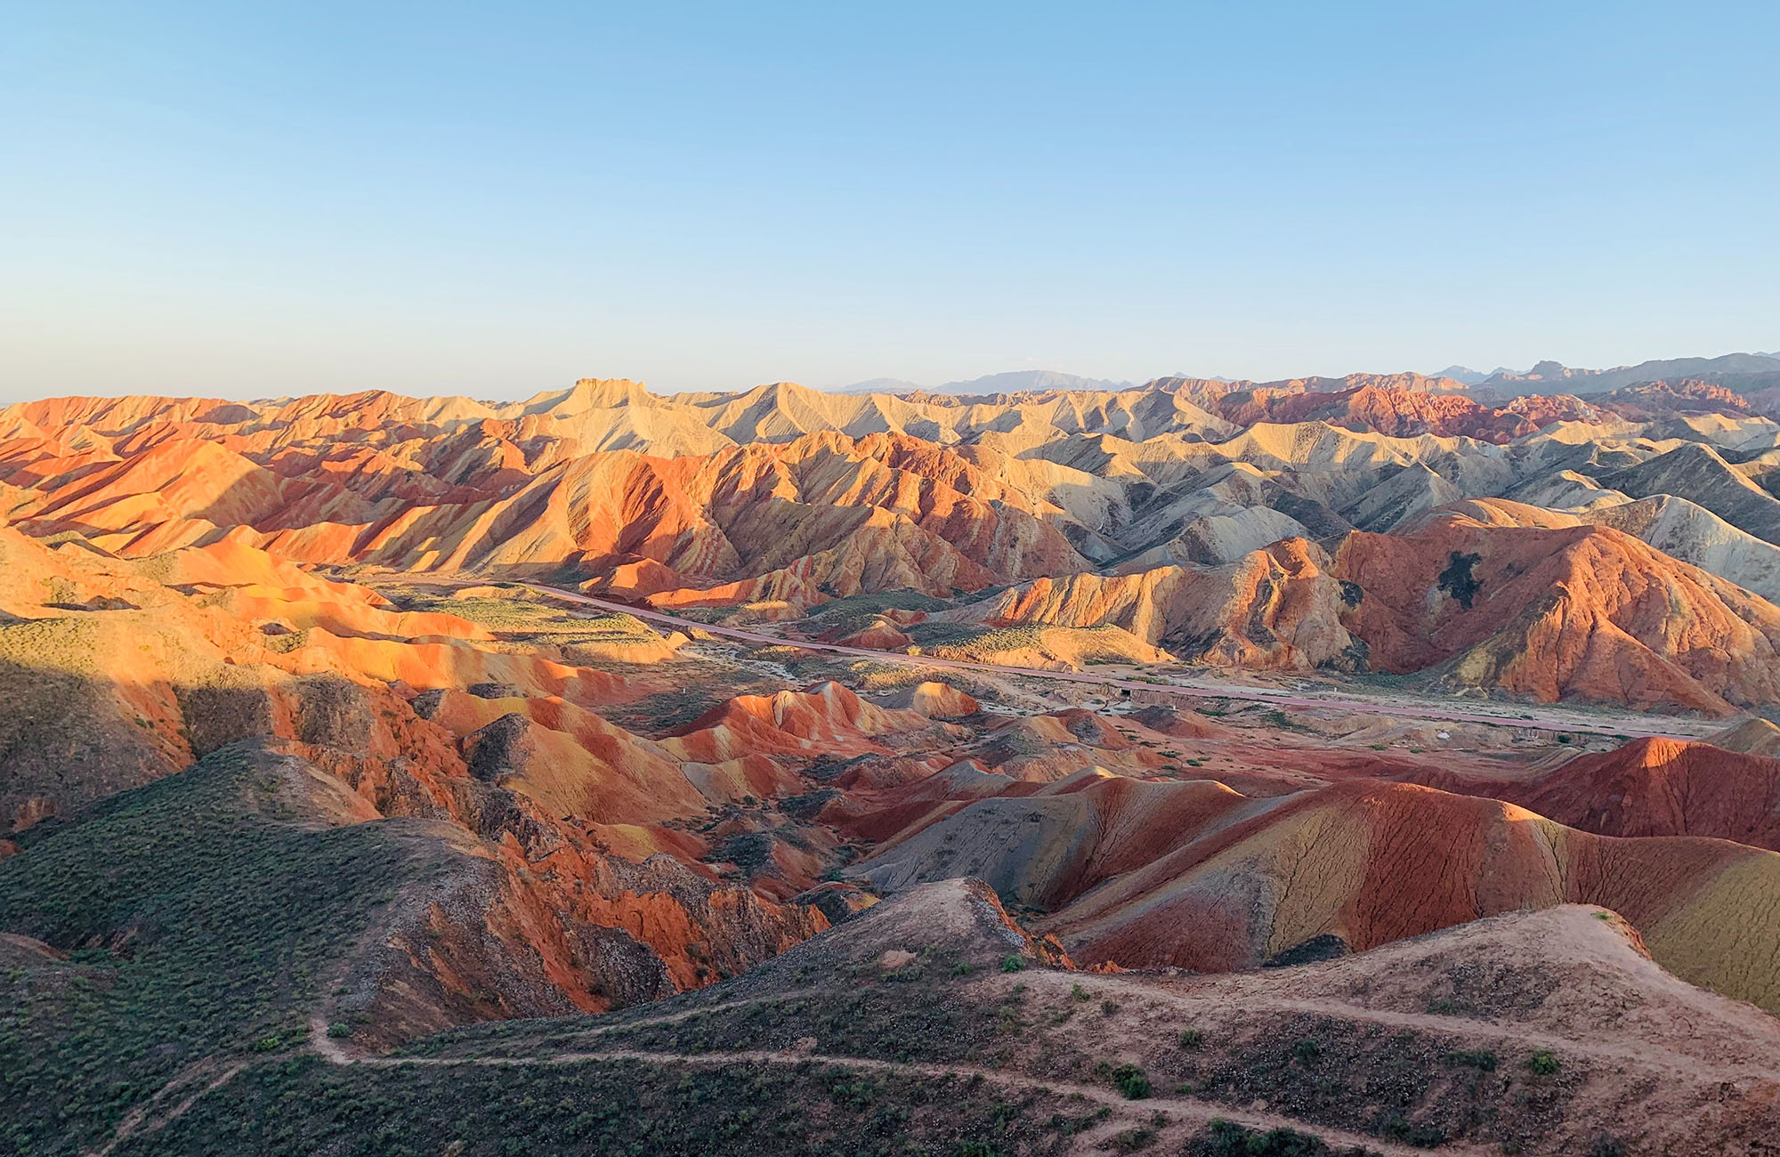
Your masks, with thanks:
M 295 1056 L 242 1072 L 116 1157 L 892 1157 L 904 1145 L 1004 1157 L 1050 1150 L 1066 1136 L 1063 1105 L 1036 1093 L 1007 1100 L 967 1079 L 862 1075 L 821 1063 L 342 1068 Z

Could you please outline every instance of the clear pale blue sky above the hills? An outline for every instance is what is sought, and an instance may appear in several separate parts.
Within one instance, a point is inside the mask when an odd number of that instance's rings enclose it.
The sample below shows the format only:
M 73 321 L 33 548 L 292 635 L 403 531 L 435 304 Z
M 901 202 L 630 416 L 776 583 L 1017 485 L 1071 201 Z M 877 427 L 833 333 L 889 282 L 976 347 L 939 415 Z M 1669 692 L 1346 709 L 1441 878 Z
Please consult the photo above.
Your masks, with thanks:
M 0 402 L 1780 349 L 1780 5 L 57 4 Z

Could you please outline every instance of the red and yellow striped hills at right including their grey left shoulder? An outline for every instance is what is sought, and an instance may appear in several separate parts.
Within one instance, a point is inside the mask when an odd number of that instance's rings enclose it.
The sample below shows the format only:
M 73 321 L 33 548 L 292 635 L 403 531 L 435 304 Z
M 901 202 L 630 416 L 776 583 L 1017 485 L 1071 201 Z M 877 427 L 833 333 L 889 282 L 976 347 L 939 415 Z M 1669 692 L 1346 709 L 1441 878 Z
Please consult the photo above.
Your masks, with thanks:
M 1502 911 L 1590 902 L 1666 968 L 1780 1007 L 1780 856 L 1695 837 L 1609 838 L 1525 808 L 1356 780 L 1244 799 L 1084 773 L 968 803 L 860 865 L 883 886 L 975 874 L 1052 908 L 1079 963 L 1253 968 L 1365 951 Z

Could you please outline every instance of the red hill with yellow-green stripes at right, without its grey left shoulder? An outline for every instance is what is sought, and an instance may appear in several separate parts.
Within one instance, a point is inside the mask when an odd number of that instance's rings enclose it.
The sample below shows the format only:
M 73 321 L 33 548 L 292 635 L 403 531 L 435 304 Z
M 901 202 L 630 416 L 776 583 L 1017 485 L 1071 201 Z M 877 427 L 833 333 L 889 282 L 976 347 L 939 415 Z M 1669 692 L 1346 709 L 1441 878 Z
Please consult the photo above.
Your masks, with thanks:
M 1218 972 L 1321 938 L 1365 951 L 1563 902 L 1620 911 L 1664 968 L 1780 1009 L 1775 853 L 1597 837 L 1515 805 L 1412 785 L 1360 781 L 1276 803 L 1114 879 L 1043 927 L 1079 961 Z

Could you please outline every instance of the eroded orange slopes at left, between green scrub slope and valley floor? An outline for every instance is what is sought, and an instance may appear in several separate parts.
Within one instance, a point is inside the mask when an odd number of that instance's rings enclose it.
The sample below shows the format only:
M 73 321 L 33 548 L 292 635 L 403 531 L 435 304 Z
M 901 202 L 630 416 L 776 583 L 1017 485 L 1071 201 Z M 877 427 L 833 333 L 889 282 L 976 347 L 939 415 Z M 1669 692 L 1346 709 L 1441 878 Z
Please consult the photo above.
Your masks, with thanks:
M 723 879 L 669 826 L 792 794 L 790 765 L 684 762 L 593 710 L 632 694 L 614 675 L 495 650 L 479 623 L 395 609 L 240 536 L 130 561 L 0 527 L 0 561 L 7 831 L 78 822 L 210 756 L 263 764 L 322 822 L 400 821 L 456 883 L 367 947 L 377 1040 L 653 999 L 826 927 Z M 780 707 L 815 737 L 781 746 L 936 726 L 838 689 Z

